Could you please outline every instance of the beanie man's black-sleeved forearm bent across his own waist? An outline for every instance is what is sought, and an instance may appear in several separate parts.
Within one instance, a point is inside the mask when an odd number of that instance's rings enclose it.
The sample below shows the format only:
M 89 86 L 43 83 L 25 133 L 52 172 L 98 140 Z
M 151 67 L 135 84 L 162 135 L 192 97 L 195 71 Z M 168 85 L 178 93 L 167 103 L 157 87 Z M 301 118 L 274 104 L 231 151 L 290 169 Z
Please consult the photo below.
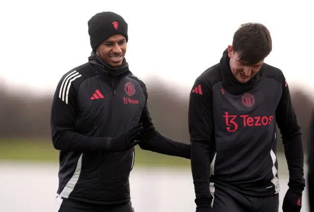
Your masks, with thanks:
M 56 133 L 52 137 L 52 143 L 55 149 L 62 151 L 93 152 L 112 150 L 110 138 L 88 137 L 71 130 Z

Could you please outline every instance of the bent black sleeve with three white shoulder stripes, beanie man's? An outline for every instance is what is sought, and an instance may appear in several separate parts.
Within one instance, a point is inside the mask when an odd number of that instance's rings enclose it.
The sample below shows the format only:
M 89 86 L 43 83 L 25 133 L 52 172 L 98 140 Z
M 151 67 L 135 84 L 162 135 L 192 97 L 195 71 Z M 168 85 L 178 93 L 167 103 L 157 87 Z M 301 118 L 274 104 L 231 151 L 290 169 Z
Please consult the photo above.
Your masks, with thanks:
M 76 132 L 77 91 L 73 82 L 65 86 L 64 77 L 58 83 L 52 99 L 51 133 L 54 148 L 78 152 L 109 150 L 110 138 L 93 138 Z

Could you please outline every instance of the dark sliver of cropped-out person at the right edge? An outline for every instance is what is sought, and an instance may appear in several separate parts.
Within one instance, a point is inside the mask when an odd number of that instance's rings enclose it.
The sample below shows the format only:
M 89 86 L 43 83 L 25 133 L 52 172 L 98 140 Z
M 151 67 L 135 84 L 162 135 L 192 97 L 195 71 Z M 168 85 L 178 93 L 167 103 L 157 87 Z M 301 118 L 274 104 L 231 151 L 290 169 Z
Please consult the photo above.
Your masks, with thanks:
M 310 140 L 308 149 L 308 192 L 310 212 L 314 212 L 314 111 L 310 126 Z

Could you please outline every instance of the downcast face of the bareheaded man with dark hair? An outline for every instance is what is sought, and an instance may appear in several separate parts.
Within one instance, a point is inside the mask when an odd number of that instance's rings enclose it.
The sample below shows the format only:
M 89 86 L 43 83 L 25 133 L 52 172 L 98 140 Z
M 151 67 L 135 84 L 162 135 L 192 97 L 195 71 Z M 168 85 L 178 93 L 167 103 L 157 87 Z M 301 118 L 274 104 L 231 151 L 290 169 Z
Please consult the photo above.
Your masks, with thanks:
M 260 71 L 264 59 L 255 64 L 248 64 L 245 61 L 241 61 L 241 55 L 239 52 L 235 52 L 231 45 L 228 46 L 228 56 L 230 58 L 230 69 L 237 79 L 241 83 L 248 82 L 258 71 Z

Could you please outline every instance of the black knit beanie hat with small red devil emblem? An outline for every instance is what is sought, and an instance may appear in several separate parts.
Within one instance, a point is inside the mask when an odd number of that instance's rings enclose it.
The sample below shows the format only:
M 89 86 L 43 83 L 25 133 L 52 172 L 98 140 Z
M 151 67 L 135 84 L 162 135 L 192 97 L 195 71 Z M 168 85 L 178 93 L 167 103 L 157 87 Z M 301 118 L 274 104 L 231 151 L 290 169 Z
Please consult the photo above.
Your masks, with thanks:
M 128 42 L 128 24 L 124 19 L 113 12 L 101 12 L 88 21 L 88 34 L 90 45 L 96 50 L 109 37 L 121 34 Z

